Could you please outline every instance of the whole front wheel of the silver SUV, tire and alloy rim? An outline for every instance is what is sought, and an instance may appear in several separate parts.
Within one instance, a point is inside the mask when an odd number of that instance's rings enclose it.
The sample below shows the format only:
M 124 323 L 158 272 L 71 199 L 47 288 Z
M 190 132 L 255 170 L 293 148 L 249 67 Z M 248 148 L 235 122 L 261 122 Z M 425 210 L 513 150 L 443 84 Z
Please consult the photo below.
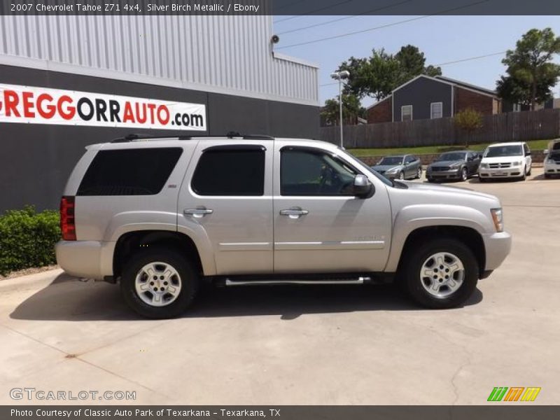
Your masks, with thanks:
M 407 265 L 402 273 L 402 286 L 424 307 L 457 307 L 475 291 L 478 262 L 461 241 L 434 239 L 405 258 Z

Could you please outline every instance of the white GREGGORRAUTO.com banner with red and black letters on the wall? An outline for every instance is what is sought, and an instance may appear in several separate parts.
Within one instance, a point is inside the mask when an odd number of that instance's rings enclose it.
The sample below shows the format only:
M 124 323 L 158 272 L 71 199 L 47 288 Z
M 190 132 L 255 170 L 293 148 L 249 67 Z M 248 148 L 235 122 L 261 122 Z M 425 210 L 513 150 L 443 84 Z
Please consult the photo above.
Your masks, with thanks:
M 0 123 L 206 131 L 206 106 L 0 83 Z

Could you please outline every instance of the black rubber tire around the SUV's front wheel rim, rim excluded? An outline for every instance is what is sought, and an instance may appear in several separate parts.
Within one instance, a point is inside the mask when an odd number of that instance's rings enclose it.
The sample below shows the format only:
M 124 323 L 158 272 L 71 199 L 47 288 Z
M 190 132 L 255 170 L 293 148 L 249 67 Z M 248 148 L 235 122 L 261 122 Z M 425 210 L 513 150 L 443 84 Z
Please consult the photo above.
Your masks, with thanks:
M 428 293 L 423 286 L 423 279 L 420 278 L 420 272 L 423 263 L 435 253 L 451 253 L 461 260 L 464 267 L 464 278 L 461 286 L 453 293 L 436 297 Z M 425 242 L 422 246 L 414 246 L 405 258 L 405 266 L 402 267 L 400 273 L 400 281 L 412 299 L 421 304 L 423 307 L 430 309 L 448 309 L 458 307 L 463 304 L 472 295 L 477 287 L 479 267 L 475 255 L 470 248 L 453 238 L 433 239 Z

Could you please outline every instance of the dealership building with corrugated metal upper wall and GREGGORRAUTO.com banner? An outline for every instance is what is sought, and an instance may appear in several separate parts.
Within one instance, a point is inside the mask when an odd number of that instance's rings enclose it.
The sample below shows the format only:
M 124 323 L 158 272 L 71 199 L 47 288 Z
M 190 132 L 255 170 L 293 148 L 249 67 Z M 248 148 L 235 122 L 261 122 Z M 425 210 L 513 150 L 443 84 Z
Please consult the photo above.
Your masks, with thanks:
M 0 16 L 0 212 L 55 209 L 88 144 L 127 134 L 318 138 L 318 68 L 271 16 Z

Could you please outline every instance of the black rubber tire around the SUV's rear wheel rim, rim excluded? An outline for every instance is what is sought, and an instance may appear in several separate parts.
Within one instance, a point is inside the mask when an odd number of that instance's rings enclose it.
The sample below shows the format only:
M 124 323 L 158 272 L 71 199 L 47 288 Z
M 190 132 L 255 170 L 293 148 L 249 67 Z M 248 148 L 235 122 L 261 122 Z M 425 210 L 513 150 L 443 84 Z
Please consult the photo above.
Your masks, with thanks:
M 150 262 L 164 262 L 179 274 L 181 290 L 175 300 L 165 306 L 155 307 L 144 302 L 136 291 L 136 277 L 142 267 Z M 167 286 L 167 284 L 166 284 Z M 199 286 L 199 276 L 193 264 L 181 254 L 168 248 L 154 248 L 132 257 L 120 279 L 120 292 L 128 306 L 146 318 L 174 318 L 181 315 L 193 302 Z M 150 290 L 148 290 L 148 293 Z

